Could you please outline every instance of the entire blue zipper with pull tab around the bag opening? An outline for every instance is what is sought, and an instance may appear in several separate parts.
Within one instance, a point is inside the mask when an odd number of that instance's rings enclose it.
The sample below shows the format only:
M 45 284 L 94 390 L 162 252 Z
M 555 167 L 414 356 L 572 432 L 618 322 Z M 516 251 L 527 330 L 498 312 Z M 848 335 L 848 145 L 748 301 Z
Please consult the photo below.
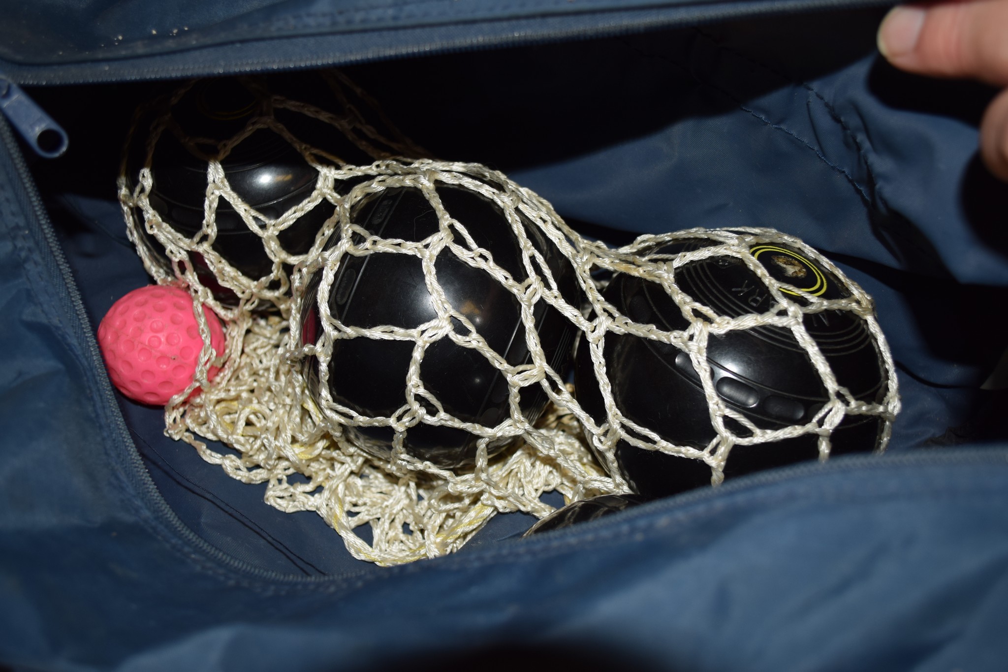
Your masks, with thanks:
M 859 8 L 859 7 L 870 7 L 870 6 L 881 6 L 891 4 L 890 0 L 778 0 L 776 2 L 760 3 L 758 8 L 752 8 L 753 3 L 734 3 L 728 7 L 719 8 L 708 8 L 707 11 L 701 6 L 700 8 L 692 6 L 688 9 L 692 11 L 684 12 L 680 16 L 674 19 L 659 19 L 653 21 L 640 21 L 631 28 L 625 29 L 613 29 L 606 30 L 605 28 L 594 28 L 594 29 L 583 29 L 583 30 L 572 30 L 572 31 L 547 31 L 536 33 L 532 36 L 527 35 L 504 35 L 496 40 L 488 40 L 486 38 L 474 38 L 474 39 L 463 39 L 453 42 L 440 42 L 434 43 L 427 46 L 414 46 L 409 49 L 385 49 L 385 50 L 372 50 L 367 54 L 367 58 L 346 58 L 339 56 L 332 57 L 320 57 L 312 59 L 298 59 L 285 61 L 282 64 L 284 69 L 311 69 L 311 68 L 324 68 L 332 66 L 338 64 L 347 64 L 353 62 L 354 60 L 380 60 L 383 58 L 391 57 L 401 57 L 416 54 L 434 54 L 434 53 L 448 53 L 448 52 L 459 52 L 468 50 L 485 49 L 489 47 L 504 47 L 504 46 L 517 46 L 521 44 L 530 44 L 537 42 L 548 42 L 557 41 L 562 39 L 575 39 L 575 38 L 591 38 L 606 35 L 619 34 L 621 32 L 631 32 L 631 31 L 643 31 L 647 29 L 654 29 L 660 27 L 675 27 L 677 25 L 683 25 L 690 22 L 700 21 L 714 21 L 714 20 L 726 20 L 732 18 L 742 18 L 757 15 L 766 15 L 771 13 L 796 13 L 799 11 L 808 11 L 814 9 L 825 9 L 825 8 Z M 683 8 L 687 9 L 687 8 Z M 713 10 L 713 11 L 712 11 Z M 162 54 L 162 56 L 168 56 L 174 54 Z M 139 60 L 154 58 L 157 59 L 159 56 L 148 56 L 140 57 Z M 211 59 L 212 60 L 212 59 Z M 83 74 L 82 66 L 97 69 L 102 71 L 101 74 L 91 73 Z M 232 61 L 222 64 L 220 61 L 214 61 L 211 65 L 210 63 L 204 61 L 197 63 L 193 69 L 185 71 L 180 74 L 180 71 L 173 68 L 167 66 L 135 66 L 129 61 L 120 61 L 116 64 L 103 63 L 101 61 L 95 61 L 92 63 L 81 63 L 71 66 L 62 66 L 60 70 L 59 65 L 53 66 L 31 66 L 30 69 L 21 69 L 18 66 L 8 68 L 8 71 L 13 71 L 19 73 L 19 76 L 15 79 L 7 77 L 3 73 L 0 73 L 0 108 L 4 112 L 4 115 L 10 121 L 11 126 L 17 129 L 17 131 L 24 137 L 28 145 L 32 147 L 40 156 L 46 158 L 54 158 L 62 154 L 66 151 L 69 139 L 66 131 L 49 117 L 45 112 L 31 100 L 27 94 L 18 86 L 18 83 L 25 85 L 85 85 L 85 84 L 99 84 L 108 82 L 129 82 L 129 81 L 141 81 L 141 80 L 156 80 L 156 79 L 170 79 L 177 77 L 199 77 L 199 76 L 223 76 L 223 75 L 233 75 L 238 73 L 253 73 L 253 72 L 264 72 L 266 70 L 276 70 L 275 68 L 265 68 L 262 65 L 258 66 L 246 66 L 243 61 Z M 84 71 L 87 72 L 86 70 Z M 38 77 L 39 74 L 45 73 L 42 77 Z M 52 135 L 55 134 L 55 135 Z M 46 137 L 47 136 L 47 137 Z M 60 294 L 60 297 L 66 299 L 72 306 L 75 316 L 76 324 L 74 324 L 75 335 L 78 337 L 78 345 L 83 345 L 84 359 L 87 360 L 87 364 L 92 372 L 102 372 L 104 370 L 104 363 L 101 359 L 101 355 L 98 351 L 97 343 L 95 342 L 94 335 L 88 330 L 90 325 L 90 319 L 87 315 L 87 311 L 84 306 L 84 302 L 81 299 L 80 292 L 77 289 L 76 281 L 74 280 L 73 273 L 71 271 L 70 265 L 68 264 L 62 249 L 55 238 L 55 233 L 53 232 L 51 225 L 48 221 L 48 217 L 44 206 L 38 195 L 37 189 L 34 186 L 34 180 L 31 173 L 27 167 L 27 164 L 22 156 L 20 149 L 17 146 L 17 142 L 14 136 L 10 133 L 9 128 L 5 124 L 0 123 L 0 141 L 6 146 L 10 160 L 14 165 L 15 172 L 21 180 L 21 184 L 28 195 L 28 199 L 31 204 L 33 215 L 35 218 L 35 223 L 41 230 L 44 239 L 48 245 L 49 251 L 55 261 L 56 267 L 58 269 L 59 275 L 61 276 L 61 286 L 55 287 L 54 291 Z M 87 333 L 85 333 L 87 331 Z M 98 405 L 104 407 L 107 411 L 105 414 L 113 425 L 115 430 L 115 435 L 118 437 L 118 442 L 120 445 L 127 448 L 125 460 L 128 466 L 130 481 L 133 482 L 137 488 L 138 495 L 141 496 L 143 500 L 143 505 L 148 507 L 148 511 L 154 515 L 154 517 L 165 524 L 170 532 L 174 535 L 175 540 L 186 543 L 191 548 L 201 551 L 205 557 L 208 559 L 215 560 L 220 564 L 225 566 L 230 566 L 233 569 L 242 571 L 246 575 L 255 576 L 260 579 L 267 581 L 281 581 L 281 582 L 294 582 L 294 583 L 319 583 L 328 582 L 334 579 L 349 578 L 349 577 L 359 577 L 361 575 L 367 575 L 372 573 L 368 569 L 362 568 L 358 572 L 348 572 L 343 574 L 329 574 L 324 576 L 297 576 L 292 574 L 284 574 L 281 572 L 263 570 L 249 565 L 241 560 L 237 560 L 230 555 L 223 553 L 217 548 L 211 546 L 201 537 L 192 532 L 175 517 L 174 512 L 168 507 L 167 503 L 161 498 L 160 493 L 157 491 L 156 486 L 151 480 L 146 466 L 140 457 L 139 451 L 136 449 L 133 442 L 132 436 L 129 433 L 129 429 L 126 426 L 125 420 L 122 414 L 118 411 L 118 403 L 112 392 L 112 387 L 107 379 L 107 377 L 102 375 L 96 375 L 93 381 L 98 392 L 100 394 L 100 399 L 98 400 Z M 976 449 L 971 451 L 957 451 L 955 456 L 946 452 L 939 454 L 920 454 L 918 451 L 914 451 L 912 454 L 904 453 L 899 455 L 888 455 L 882 458 L 882 462 L 876 463 L 886 463 L 888 465 L 910 465 L 910 464 L 920 464 L 920 463 L 941 463 L 941 462 L 960 462 L 960 461 L 985 461 L 992 460 L 993 455 L 991 450 Z M 622 522 L 629 521 L 630 518 L 639 518 L 647 515 L 660 515 L 668 513 L 672 510 L 685 507 L 695 503 L 702 502 L 707 499 L 717 498 L 722 494 L 727 495 L 728 493 L 744 490 L 749 488 L 755 488 L 760 486 L 766 486 L 777 482 L 788 481 L 792 479 L 804 478 L 811 476 L 814 473 L 827 474 L 832 471 L 850 469 L 858 468 L 869 463 L 869 460 L 875 461 L 877 457 L 872 456 L 849 456 L 845 457 L 839 462 L 828 462 L 826 464 L 818 464 L 815 462 L 796 464 L 789 467 L 773 469 L 770 472 L 763 472 L 754 475 L 747 476 L 739 481 L 730 482 L 716 489 L 702 489 L 699 491 L 694 491 L 686 493 L 668 500 L 660 500 L 656 502 L 651 502 L 643 505 L 640 508 L 635 508 L 631 511 L 624 512 L 618 518 Z M 993 457 L 993 459 L 997 459 Z M 612 525 L 614 522 L 611 518 L 606 518 L 602 520 L 592 521 L 588 523 L 580 524 L 574 528 L 566 530 L 559 530 L 551 532 L 548 535 L 550 540 L 559 540 L 561 538 L 574 537 L 581 535 L 582 533 L 591 534 L 597 529 L 607 527 Z M 538 540 L 522 540 L 522 539 L 509 539 L 504 541 L 504 545 L 511 547 L 514 544 L 535 544 Z M 480 551 L 474 551 L 479 553 Z M 485 549 L 485 552 L 490 552 L 490 549 Z M 472 557 L 471 555 L 468 557 Z M 451 556 L 448 558 L 443 558 L 443 561 L 450 561 Z

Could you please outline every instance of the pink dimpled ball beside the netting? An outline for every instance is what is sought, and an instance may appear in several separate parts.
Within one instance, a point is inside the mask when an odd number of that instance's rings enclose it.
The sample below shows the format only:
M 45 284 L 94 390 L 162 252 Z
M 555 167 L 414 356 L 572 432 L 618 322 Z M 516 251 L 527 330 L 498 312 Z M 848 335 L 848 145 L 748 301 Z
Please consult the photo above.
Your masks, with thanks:
M 203 312 L 210 324 L 210 345 L 223 355 L 221 319 L 207 306 Z M 196 376 L 203 339 L 193 299 L 177 287 L 134 289 L 105 314 L 98 326 L 98 345 L 116 389 L 135 401 L 163 406 Z M 207 377 L 213 380 L 218 370 L 211 367 Z

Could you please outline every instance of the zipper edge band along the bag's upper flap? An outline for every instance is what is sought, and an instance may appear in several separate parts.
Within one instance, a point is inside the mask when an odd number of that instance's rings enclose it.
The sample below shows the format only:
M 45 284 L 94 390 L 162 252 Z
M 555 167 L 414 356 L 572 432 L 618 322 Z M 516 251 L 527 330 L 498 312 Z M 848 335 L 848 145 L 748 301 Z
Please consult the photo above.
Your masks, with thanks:
M 574 2 L 574 0 L 571 0 Z M 529 3 L 534 4 L 534 3 Z M 372 24 L 367 30 L 320 33 L 259 34 L 216 43 L 188 43 L 156 53 L 76 62 L 21 64 L 0 61 L 12 82 L 23 86 L 126 83 L 163 79 L 251 75 L 284 70 L 334 68 L 409 56 L 455 53 L 547 42 L 611 37 L 648 30 L 682 27 L 714 21 L 769 15 L 797 14 L 829 9 L 860 9 L 892 5 L 893 0 L 691 0 L 627 7 L 489 17 L 476 21 L 431 22 L 419 25 Z M 554 24 L 560 24 L 556 27 Z M 459 34 L 460 27 L 488 26 L 476 35 Z M 278 29 L 279 30 L 279 29 Z M 379 42 L 394 33 L 394 46 Z M 447 36 L 443 36 L 447 35 Z M 399 36 L 403 35 L 400 39 Z M 364 39 L 354 41 L 353 38 Z M 166 38 L 170 39 L 170 38 Z M 300 46 L 295 44 L 302 41 Z M 304 42 L 310 44 L 304 46 Z M 353 41 L 353 44 L 348 42 Z M 310 57 L 298 49 L 314 51 Z M 322 55 L 319 55 L 319 54 Z M 266 54 L 265 56 L 262 54 Z

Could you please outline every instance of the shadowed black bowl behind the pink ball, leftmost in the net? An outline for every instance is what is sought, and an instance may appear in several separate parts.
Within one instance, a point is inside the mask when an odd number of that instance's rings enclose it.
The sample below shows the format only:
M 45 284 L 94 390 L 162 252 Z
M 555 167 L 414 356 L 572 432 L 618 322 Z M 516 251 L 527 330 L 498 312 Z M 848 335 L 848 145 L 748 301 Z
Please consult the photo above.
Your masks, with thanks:
M 207 168 L 212 159 L 221 160 L 228 183 L 242 200 L 265 219 L 279 218 L 310 196 L 318 171 L 289 142 L 268 129 L 253 132 L 223 158 L 217 147 L 218 142 L 241 132 L 253 117 L 267 114 L 268 107 L 263 91 L 246 87 L 238 80 L 200 82 L 175 105 L 169 107 L 164 99 L 141 121 L 141 132 L 129 148 L 127 175 L 135 179 L 144 164 L 147 138 L 142 130 L 158 116 L 168 115 L 168 127 L 158 138 L 151 159 L 150 205 L 164 222 L 187 237 L 200 232 Z M 333 212 L 333 206 L 323 200 L 278 235 L 280 245 L 290 254 L 307 252 Z M 169 268 L 164 248 L 142 227 L 142 213 L 136 216 L 143 243 L 165 269 Z M 252 280 L 272 273 L 273 261 L 262 239 L 223 197 L 218 200 L 216 223 L 215 252 Z M 264 227 L 264 219 L 257 218 L 254 226 Z M 191 253 L 190 262 L 200 281 L 213 290 L 218 300 L 237 305 L 237 295 L 220 284 L 202 255 Z

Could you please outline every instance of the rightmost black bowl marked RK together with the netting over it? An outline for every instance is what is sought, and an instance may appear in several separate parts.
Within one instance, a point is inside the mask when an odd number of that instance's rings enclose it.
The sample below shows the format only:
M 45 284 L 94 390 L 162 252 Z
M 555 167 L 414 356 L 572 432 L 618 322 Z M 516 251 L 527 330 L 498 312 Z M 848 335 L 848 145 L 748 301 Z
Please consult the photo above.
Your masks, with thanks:
M 576 413 L 619 487 L 885 449 L 900 403 L 874 302 L 815 250 L 757 228 L 595 250 L 615 275 L 588 288 Z

